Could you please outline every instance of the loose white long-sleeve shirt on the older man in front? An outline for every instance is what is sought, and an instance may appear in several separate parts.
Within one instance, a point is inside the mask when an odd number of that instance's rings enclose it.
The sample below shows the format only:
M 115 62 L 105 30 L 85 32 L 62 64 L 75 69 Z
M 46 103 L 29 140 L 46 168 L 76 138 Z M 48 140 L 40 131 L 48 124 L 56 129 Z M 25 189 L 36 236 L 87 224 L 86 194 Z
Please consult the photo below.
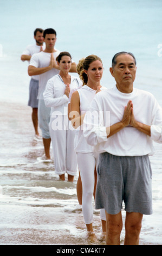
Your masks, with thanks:
M 134 117 L 151 126 L 151 137 L 132 126 L 127 126 L 107 138 L 106 127 L 122 120 L 124 108 L 133 102 Z M 151 93 L 134 88 L 132 93 L 121 93 L 116 86 L 96 94 L 84 119 L 83 135 L 99 153 L 116 156 L 142 156 L 154 153 L 153 140 L 162 143 L 162 108 Z

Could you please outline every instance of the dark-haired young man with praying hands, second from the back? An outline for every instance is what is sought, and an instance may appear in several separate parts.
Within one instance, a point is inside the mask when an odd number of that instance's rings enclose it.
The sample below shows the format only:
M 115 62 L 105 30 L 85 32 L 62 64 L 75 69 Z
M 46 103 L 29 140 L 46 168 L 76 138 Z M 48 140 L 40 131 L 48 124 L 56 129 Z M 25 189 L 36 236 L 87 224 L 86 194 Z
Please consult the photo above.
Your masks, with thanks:
M 56 57 L 60 51 L 55 49 L 56 31 L 53 28 L 44 30 L 43 33 L 46 48 L 44 51 L 34 54 L 30 59 L 28 68 L 29 76 L 39 75 L 39 90 L 38 90 L 38 122 L 42 130 L 43 144 L 45 155 L 42 160 L 50 160 L 50 108 L 44 104 L 43 93 L 46 88 L 47 81 L 59 74 L 59 66 L 56 64 Z M 76 64 L 72 63 L 70 72 L 76 72 Z

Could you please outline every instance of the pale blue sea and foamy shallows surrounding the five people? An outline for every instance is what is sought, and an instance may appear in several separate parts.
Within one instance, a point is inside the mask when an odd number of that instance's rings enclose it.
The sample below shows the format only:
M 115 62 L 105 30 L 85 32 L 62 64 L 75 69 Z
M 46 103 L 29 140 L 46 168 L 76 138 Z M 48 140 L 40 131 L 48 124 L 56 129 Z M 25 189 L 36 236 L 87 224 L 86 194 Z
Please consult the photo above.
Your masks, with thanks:
M 101 57 L 102 85 L 116 52 L 137 58 L 134 86 L 154 94 L 162 106 L 161 0 L 0 0 L 0 244 L 84 245 L 86 228 L 77 202 L 76 182 L 61 182 L 54 163 L 37 160 L 42 142 L 34 142 L 27 106 L 30 77 L 22 51 L 34 44 L 36 27 L 57 32 L 56 48 L 69 51 L 75 62 L 89 54 Z M 76 74 L 75 74 L 76 75 Z M 151 156 L 153 215 L 144 216 L 141 245 L 161 245 L 162 145 Z M 122 212 L 125 218 L 125 212 Z M 101 233 L 99 211 L 94 229 Z M 121 240 L 124 239 L 124 230 Z M 102 243 L 100 243 L 102 244 Z

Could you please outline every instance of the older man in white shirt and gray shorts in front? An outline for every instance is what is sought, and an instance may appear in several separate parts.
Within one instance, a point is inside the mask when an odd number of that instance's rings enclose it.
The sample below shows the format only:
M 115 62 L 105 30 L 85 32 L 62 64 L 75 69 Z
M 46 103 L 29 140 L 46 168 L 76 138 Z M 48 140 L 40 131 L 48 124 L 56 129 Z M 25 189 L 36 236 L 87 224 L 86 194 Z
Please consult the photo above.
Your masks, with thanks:
M 107 245 L 120 245 L 123 201 L 125 245 L 139 244 L 142 216 L 152 214 L 148 155 L 153 140 L 162 143 L 162 109 L 152 94 L 133 88 L 136 70 L 132 53 L 115 54 L 116 85 L 96 94 L 84 120 L 87 142 L 101 153 L 96 209 L 106 210 Z

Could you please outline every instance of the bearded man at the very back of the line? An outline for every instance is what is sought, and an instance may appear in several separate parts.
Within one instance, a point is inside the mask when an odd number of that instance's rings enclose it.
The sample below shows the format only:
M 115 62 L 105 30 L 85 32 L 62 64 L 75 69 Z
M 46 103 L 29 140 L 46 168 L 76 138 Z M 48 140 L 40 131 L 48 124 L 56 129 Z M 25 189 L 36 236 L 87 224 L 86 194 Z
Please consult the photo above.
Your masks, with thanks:
M 27 48 L 23 51 L 21 60 L 24 62 L 27 60 L 28 62 L 31 59 L 31 56 L 35 53 L 38 53 L 40 51 L 43 51 L 43 29 L 42 28 L 36 28 L 34 31 L 34 39 L 36 41 L 36 44 L 34 45 L 28 45 Z M 40 139 L 40 135 L 38 132 L 38 117 L 37 117 L 37 110 L 38 110 L 38 76 L 32 76 L 29 84 L 29 101 L 28 106 L 30 106 L 33 111 L 31 114 L 34 130 L 35 130 L 35 137 L 34 139 L 37 141 L 37 139 Z

